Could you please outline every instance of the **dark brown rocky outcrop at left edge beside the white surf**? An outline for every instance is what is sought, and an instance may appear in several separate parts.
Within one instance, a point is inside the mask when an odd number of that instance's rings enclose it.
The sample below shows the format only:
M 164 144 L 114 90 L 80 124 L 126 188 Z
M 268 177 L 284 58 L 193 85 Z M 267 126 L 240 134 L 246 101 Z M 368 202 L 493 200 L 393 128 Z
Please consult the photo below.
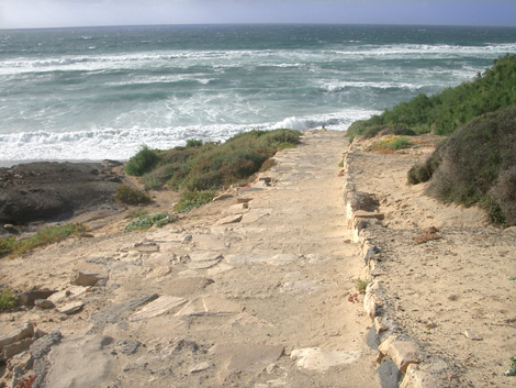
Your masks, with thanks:
M 0 168 L 0 223 L 56 221 L 113 203 L 115 162 L 29 163 Z

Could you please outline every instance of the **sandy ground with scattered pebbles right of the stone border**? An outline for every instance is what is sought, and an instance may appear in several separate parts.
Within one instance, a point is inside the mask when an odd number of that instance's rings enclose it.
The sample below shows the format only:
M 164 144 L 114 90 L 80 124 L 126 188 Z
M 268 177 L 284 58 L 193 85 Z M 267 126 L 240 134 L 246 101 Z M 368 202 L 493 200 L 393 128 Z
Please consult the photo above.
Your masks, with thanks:
M 375 278 L 400 331 L 420 344 L 426 362 L 446 362 L 449 386 L 514 387 L 503 374 L 516 350 L 515 229 L 489 226 L 478 208 L 439 203 L 424 196 L 425 184 L 408 186 L 407 170 L 431 147 L 380 154 L 367 151 L 371 142 L 354 146 L 349 173 L 385 214 L 373 233 L 382 251 Z M 431 226 L 441 239 L 417 244 Z

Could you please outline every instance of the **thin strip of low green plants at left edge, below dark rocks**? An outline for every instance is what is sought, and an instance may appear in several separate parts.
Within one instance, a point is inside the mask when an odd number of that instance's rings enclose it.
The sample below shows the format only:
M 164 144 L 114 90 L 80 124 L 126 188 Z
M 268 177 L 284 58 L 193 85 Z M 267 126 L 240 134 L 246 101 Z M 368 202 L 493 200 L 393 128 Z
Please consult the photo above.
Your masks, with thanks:
M 83 235 L 88 230 L 85 225 L 74 223 L 44 228 L 32 237 L 25 240 L 4 237 L 0 240 L 0 257 L 22 255 L 38 246 L 58 243 L 70 236 Z

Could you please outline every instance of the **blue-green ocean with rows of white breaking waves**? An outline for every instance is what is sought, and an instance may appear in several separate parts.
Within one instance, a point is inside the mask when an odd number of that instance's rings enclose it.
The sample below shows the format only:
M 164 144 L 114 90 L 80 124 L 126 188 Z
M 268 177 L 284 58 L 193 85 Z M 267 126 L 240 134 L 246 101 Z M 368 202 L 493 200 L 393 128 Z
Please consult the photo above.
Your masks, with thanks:
M 123 160 L 254 129 L 345 131 L 508 53 L 514 27 L 0 30 L 0 163 Z

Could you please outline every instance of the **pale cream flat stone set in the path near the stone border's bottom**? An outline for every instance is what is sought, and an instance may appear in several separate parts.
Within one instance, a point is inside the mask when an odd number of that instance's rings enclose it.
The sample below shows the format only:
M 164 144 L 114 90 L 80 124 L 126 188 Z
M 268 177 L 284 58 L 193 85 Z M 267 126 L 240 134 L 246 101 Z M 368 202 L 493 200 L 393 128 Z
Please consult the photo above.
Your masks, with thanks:
M 296 359 L 299 367 L 304 369 L 325 372 L 333 366 L 350 364 L 360 357 L 358 351 L 326 351 L 319 347 L 305 347 L 293 350 L 290 354 Z

